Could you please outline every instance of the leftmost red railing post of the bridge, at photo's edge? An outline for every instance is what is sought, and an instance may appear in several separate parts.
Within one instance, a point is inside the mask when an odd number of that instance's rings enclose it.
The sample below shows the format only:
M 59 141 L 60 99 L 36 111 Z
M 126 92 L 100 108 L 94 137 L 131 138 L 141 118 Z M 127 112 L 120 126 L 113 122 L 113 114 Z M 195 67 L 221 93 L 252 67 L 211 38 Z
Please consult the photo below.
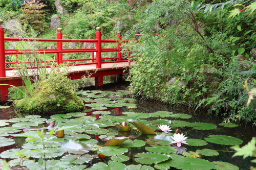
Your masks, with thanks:
M 4 21 L 0 19 L 0 77 L 6 77 L 5 73 L 5 30 Z

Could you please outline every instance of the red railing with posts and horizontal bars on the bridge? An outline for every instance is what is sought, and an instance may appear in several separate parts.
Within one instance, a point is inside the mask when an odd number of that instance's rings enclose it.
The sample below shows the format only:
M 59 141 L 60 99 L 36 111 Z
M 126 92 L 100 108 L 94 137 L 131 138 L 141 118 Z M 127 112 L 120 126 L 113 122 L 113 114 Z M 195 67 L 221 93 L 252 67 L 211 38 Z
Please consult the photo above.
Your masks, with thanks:
M 125 62 L 124 58 L 128 58 L 127 62 L 130 62 L 131 53 L 128 51 L 127 57 L 122 57 L 121 54 L 121 43 L 129 42 L 128 40 L 122 40 L 121 33 L 118 32 L 117 40 L 102 40 L 101 39 L 101 32 L 100 28 L 96 28 L 96 38 L 95 39 L 62 39 L 62 29 L 57 29 L 57 39 L 42 39 L 42 38 L 10 38 L 4 36 L 4 27 L 3 20 L 0 20 L 0 77 L 6 77 L 6 70 L 16 69 L 17 67 L 6 67 L 6 65 L 12 64 L 19 64 L 19 63 L 29 63 L 29 61 L 22 61 L 18 60 L 18 55 L 25 55 L 30 53 L 38 53 L 38 54 L 56 54 L 56 60 L 48 60 L 47 63 L 56 62 L 57 64 L 61 64 L 63 62 L 75 62 L 75 61 L 91 61 L 91 62 L 84 62 L 84 63 L 74 63 L 74 64 L 67 64 L 67 65 L 89 65 L 95 64 L 96 68 L 101 68 L 102 63 L 115 63 L 115 62 Z M 57 48 L 56 49 L 5 49 L 5 41 L 36 41 L 36 42 L 56 42 Z M 63 49 L 62 43 L 63 42 L 87 42 L 87 43 L 95 43 L 96 48 L 74 48 L 74 49 Z M 102 43 L 117 43 L 117 48 L 102 48 Z M 109 58 L 102 58 L 102 52 L 117 52 L 116 57 L 109 57 Z M 92 53 L 92 58 L 87 59 L 67 59 L 63 60 L 62 54 L 63 53 Z M 96 56 L 94 56 L 96 53 Z M 15 55 L 15 62 L 10 61 L 6 62 L 5 55 Z M 94 58 L 96 57 L 96 58 Z M 114 60 L 114 61 L 102 61 L 102 60 Z M 38 61 L 44 63 L 45 61 Z M 52 65 L 47 65 L 46 67 L 51 67 Z M 56 65 L 54 65 L 56 66 Z M 44 67 L 44 66 L 42 66 Z M 28 67 L 28 68 L 37 68 Z

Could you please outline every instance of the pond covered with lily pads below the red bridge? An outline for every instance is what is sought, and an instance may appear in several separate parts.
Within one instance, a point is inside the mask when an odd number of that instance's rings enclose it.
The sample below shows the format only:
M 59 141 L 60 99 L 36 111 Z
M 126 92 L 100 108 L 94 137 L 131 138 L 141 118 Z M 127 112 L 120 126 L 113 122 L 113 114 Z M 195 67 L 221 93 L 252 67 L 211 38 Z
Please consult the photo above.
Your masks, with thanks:
M 16 113 L 13 107 L 1 109 L 0 157 L 9 165 L 30 169 L 249 169 L 252 165 L 250 158 L 232 158 L 230 148 L 250 141 L 255 136 L 251 127 L 221 124 L 220 117 L 205 111 L 140 101 L 127 93 L 116 88 L 78 91 L 87 107 L 84 112 L 40 116 Z M 170 125 L 172 131 L 161 132 L 160 125 Z M 61 132 L 65 135 L 57 138 L 55 133 Z M 187 137 L 181 147 L 169 144 L 175 132 Z

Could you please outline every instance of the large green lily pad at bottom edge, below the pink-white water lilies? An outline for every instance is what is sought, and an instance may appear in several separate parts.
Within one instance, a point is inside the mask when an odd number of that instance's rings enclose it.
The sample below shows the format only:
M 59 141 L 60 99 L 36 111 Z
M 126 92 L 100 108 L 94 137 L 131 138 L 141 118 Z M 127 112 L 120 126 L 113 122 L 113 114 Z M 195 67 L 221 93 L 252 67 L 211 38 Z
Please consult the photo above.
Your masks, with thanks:
M 200 159 L 200 158 L 189 158 L 189 157 L 176 157 L 170 161 L 170 166 L 178 169 L 187 170 L 208 170 L 213 169 L 215 166 L 213 163 Z

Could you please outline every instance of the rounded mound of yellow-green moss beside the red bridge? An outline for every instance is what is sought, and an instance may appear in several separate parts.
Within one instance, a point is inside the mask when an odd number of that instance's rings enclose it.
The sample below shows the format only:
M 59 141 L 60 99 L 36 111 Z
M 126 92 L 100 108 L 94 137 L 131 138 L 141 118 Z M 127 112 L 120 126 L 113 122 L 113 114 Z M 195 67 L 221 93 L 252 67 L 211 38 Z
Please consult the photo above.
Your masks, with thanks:
M 82 111 L 85 107 L 72 88 L 70 79 L 54 74 L 40 83 L 32 98 L 14 103 L 20 112 L 49 113 Z

